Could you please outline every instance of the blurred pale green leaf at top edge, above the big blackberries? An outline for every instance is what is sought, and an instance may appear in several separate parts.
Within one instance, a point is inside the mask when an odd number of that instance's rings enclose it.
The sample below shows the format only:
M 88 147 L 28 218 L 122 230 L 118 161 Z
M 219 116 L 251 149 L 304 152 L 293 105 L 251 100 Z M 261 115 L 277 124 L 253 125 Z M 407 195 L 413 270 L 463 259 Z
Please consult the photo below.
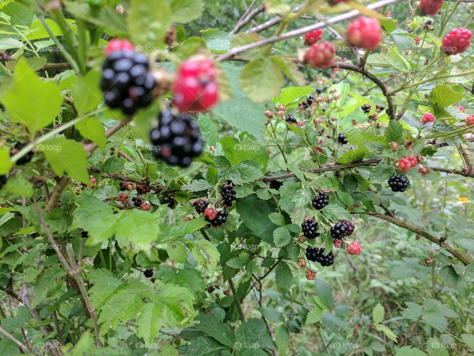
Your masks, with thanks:
M 180 5 L 177 6 L 179 9 Z M 145 46 L 144 49 L 151 46 L 152 50 L 163 44 L 168 27 L 173 21 L 169 1 L 131 0 L 127 12 L 127 27 L 135 44 Z M 184 16 L 183 18 L 186 19 Z

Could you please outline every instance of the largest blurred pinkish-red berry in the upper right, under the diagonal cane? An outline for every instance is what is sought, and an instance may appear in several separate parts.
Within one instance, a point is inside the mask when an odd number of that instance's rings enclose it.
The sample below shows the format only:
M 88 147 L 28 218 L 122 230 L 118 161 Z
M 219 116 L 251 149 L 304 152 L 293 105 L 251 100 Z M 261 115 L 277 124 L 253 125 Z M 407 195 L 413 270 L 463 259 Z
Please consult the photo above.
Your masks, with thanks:
M 377 19 L 361 16 L 347 28 L 347 41 L 356 47 L 375 49 L 382 41 L 382 28 Z

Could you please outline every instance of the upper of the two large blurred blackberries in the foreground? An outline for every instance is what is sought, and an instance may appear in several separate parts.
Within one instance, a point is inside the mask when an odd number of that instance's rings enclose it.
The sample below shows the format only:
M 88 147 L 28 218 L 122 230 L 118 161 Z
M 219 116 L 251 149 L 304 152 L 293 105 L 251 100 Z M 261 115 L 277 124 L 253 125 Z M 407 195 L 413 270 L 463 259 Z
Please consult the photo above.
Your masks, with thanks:
M 125 115 L 131 115 L 138 108 L 150 105 L 156 80 L 145 54 L 114 51 L 105 60 L 102 70 L 100 89 L 108 107 L 120 108 Z

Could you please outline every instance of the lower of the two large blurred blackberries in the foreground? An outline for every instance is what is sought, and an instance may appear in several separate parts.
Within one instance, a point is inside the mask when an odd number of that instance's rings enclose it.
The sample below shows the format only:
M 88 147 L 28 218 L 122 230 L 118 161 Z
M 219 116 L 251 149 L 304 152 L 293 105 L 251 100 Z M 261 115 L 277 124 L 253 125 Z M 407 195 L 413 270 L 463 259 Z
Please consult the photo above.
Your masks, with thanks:
M 199 126 L 188 114 L 176 116 L 169 110 L 159 114 L 158 127 L 151 131 L 150 140 L 155 158 L 183 168 L 201 154 L 204 143 Z

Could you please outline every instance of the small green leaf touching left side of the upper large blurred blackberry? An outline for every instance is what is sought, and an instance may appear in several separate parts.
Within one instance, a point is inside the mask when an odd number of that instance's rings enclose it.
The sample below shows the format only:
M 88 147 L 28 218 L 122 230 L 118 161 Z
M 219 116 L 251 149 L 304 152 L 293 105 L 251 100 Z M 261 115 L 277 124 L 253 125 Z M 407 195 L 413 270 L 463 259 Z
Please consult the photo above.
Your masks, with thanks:
M 98 71 L 90 71 L 85 77 L 78 77 L 72 96 L 79 115 L 94 110 L 102 102 L 100 77 Z

